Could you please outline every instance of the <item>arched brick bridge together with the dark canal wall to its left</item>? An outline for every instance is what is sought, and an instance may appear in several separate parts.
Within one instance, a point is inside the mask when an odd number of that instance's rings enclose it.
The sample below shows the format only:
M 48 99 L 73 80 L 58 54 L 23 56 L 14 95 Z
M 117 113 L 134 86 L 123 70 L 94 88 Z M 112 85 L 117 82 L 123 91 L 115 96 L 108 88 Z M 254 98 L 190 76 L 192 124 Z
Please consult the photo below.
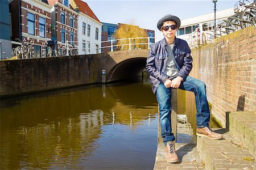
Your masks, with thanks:
M 82 56 L 0 61 L 0 96 L 52 90 L 142 75 L 148 49 L 122 50 Z

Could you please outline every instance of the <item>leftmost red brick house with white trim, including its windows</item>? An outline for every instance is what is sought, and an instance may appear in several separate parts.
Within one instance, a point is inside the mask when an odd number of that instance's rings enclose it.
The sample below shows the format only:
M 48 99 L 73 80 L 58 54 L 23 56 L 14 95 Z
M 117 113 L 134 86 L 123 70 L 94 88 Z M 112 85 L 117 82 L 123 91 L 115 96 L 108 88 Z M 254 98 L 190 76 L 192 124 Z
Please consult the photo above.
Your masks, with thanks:
M 26 46 L 24 58 L 44 57 L 51 40 L 51 6 L 46 0 L 9 1 L 12 48 Z

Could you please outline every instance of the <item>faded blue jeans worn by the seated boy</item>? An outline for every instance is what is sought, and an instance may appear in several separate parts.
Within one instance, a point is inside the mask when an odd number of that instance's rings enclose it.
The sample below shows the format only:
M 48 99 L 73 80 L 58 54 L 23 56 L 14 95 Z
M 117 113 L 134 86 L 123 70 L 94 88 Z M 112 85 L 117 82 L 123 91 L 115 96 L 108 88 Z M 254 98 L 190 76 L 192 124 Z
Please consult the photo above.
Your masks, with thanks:
M 209 126 L 210 111 L 206 95 L 206 86 L 204 82 L 187 76 L 184 82 L 181 82 L 181 90 L 192 91 L 196 98 L 196 125 L 197 128 Z M 164 145 L 167 141 L 174 141 L 175 137 L 171 128 L 171 88 L 166 88 L 160 84 L 156 90 L 156 99 L 159 106 L 159 119 L 161 125 L 161 135 Z

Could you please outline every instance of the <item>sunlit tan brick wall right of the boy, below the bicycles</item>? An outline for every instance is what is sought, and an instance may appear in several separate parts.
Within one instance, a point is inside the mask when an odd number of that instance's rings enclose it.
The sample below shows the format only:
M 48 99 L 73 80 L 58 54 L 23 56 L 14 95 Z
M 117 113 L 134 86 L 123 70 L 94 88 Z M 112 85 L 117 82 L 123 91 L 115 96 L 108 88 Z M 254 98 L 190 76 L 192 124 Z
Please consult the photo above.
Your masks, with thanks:
M 256 29 L 249 27 L 192 50 L 191 76 L 207 85 L 212 114 L 225 127 L 226 112 L 256 111 Z M 187 105 L 193 94 L 187 93 Z M 189 112 L 189 111 L 188 111 Z

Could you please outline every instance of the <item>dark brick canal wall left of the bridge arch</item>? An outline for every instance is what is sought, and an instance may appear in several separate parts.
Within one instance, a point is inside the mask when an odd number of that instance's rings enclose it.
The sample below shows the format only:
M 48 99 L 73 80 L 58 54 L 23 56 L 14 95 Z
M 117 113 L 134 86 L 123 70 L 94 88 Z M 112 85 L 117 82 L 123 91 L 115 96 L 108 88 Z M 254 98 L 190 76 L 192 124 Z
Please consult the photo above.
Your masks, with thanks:
M 90 55 L 1 61 L 0 95 L 100 82 L 96 58 Z

